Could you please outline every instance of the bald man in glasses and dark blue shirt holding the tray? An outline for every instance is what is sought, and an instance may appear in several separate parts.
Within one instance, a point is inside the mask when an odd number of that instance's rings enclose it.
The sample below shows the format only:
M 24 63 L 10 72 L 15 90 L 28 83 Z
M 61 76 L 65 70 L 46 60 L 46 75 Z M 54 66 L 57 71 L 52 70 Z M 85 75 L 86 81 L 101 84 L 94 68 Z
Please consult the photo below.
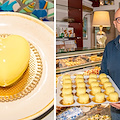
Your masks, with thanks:
M 116 11 L 113 23 L 119 35 L 106 45 L 100 73 L 109 75 L 120 89 L 120 9 Z M 120 120 L 120 103 L 110 105 L 112 120 Z

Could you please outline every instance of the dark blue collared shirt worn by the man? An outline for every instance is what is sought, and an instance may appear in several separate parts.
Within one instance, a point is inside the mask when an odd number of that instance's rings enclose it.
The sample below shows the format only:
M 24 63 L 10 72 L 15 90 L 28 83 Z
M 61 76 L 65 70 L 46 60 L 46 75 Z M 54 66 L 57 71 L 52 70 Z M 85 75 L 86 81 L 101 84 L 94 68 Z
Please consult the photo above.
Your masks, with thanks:
M 120 89 L 120 36 L 110 41 L 104 50 L 100 73 L 109 75 Z

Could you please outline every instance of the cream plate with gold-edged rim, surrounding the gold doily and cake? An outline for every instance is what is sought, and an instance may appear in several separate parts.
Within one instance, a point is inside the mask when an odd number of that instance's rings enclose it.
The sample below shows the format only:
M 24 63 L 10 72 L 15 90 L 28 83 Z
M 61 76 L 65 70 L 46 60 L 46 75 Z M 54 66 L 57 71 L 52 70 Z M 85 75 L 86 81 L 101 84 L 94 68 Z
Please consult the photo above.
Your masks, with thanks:
M 33 119 L 53 106 L 54 34 L 47 25 L 33 17 L 0 12 L 0 34 L 6 33 L 23 36 L 37 48 L 42 58 L 43 73 L 38 85 L 27 96 L 13 102 L 0 102 L 0 119 Z

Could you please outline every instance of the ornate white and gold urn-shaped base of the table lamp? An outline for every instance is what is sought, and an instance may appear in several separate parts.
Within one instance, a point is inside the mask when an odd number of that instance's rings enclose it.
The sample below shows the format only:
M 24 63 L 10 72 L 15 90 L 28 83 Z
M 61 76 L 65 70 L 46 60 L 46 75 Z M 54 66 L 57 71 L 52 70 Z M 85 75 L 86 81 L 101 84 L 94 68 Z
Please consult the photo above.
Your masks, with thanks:
M 96 34 L 97 42 L 99 43 L 100 47 L 105 47 L 105 41 L 107 40 L 106 34 L 103 31 L 99 31 Z

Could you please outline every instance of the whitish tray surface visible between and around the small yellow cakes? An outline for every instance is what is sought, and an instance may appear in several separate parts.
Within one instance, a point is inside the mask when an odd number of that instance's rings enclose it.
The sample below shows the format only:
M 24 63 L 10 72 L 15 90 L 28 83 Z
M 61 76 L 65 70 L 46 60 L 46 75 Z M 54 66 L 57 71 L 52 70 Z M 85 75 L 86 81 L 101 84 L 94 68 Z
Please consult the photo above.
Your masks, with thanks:
M 118 87 L 116 86 L 116 84 L 114 83 L 114 81 L 111 79 L 111 77 L 110 76 L 108 76 L 107 75 L 107 77 L 109 78 L 109 81 L 112 83 L 112 86 L 115 88 L 115 91 L 119 94 L 119 101 L 120 101 L 120 90 L 118 89 Z M 62 93 L 62 91 L 61 91 L 61 89 L 62 89 L 62 76 L 60 76 L 59 78 L 58 78 L 58 85 L 57 85 L 57 102 L 56 102 L 56 105 L 57 106 L 61 106 L 61 107 L 66 107 L 66 106 L 79 106 L 79 105 L 93 105 L 93 104 L 101 104 L 101 103 L 96 103 L 96 102 L 94 102 L 93 100 L 92 100 L 92 98 L 94 97 L 93 95 L 91 95 L 90 94 L 90 89 L 89 89 L 89 85 L 88 85 L 88 78 L 89 78 L 89 76 L 84 76 L 84 79 L 85 79 L 85 83 L 86 83 L 86 92 L 89 94 L 89 98 L 90 98 L 90 102 L 88 103 L 88 104 L 81 104 L 81 103 L 78 103 L 77 102 L 77 99 L 78 99 L 78 97 L 75 95 L 75 93 L 76 93 L 76 89 L 75 89 L 75 87 L 76 87 L 76 85 L 74 84 L 75 83 L 75 76 L 74 75 L 71 75 L 71 79 L 72 79 L 72 88 L 73 88 L 73 90 L 72 90 L 72 93 L 73 93 L 73 95 L 74 95 L 74 103 L 73 104 L 71 104 L 71 105 L 63 105 L 63 104 L 61 104 L 61 102 L 60 101 L 62 101 L 62 97 L 61 97 L 61 93 Z M 97 78 L 99 78 L 99 75 L 97 75 Z M 98 80 L 98 82 L 100 82 L 99 80 Z M 101 92 L 103 92 L 104 93 L 104 89 L 102 89 L 102 85 L 100 84 L 100 87 L 101 87 Z M 107 103 L 111 103 L 110 101 L 108 101 L 107 100 L 107 95 L 105 95 L 105 101 L 104 102 L 102 102 L 102 103 L 104 103 L 104 104 L 107 104 Z M 118 102 L 119 102 L 118 101 Z

